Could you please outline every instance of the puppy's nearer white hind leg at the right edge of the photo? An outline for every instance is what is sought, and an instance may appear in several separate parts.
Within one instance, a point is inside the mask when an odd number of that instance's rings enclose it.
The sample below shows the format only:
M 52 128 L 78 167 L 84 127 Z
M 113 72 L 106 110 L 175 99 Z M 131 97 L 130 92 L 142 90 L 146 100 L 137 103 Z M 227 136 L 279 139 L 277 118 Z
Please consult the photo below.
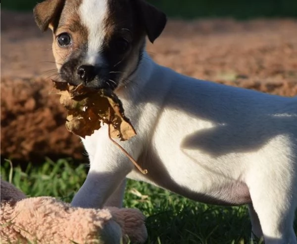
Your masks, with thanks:
M 269 169 L 254 171 L 247 182 L 265 244 L 297 244 L 293 229 L 297 206 L 294 170 L 288 164 L 278 169 L 273 162 L 266 166 Z

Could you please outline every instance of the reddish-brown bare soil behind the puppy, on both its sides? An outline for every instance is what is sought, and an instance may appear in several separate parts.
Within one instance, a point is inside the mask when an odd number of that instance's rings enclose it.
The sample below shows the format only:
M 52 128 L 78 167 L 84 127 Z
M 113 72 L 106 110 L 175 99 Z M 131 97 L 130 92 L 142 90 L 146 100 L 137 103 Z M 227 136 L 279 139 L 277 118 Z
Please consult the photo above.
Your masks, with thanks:
M 297 20 L 170 20 L 150 56 L 199 79 L 283 96 L 297 95 Z M 1 11 L 1 159 L 85 158 L 50 94 L 56 76 L 51 33 L 32 14 Z

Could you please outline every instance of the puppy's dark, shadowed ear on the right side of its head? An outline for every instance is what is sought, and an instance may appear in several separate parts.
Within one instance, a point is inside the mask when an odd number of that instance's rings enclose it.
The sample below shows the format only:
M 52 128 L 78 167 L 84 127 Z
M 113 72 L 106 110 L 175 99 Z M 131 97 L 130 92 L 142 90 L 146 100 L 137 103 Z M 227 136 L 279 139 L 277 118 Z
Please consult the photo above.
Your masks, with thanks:
M 165 28 L 167 17 L 145 0 L 134 0 L 137 15 L 142 21 L 148 35 L 148 40 L 153 43 Z

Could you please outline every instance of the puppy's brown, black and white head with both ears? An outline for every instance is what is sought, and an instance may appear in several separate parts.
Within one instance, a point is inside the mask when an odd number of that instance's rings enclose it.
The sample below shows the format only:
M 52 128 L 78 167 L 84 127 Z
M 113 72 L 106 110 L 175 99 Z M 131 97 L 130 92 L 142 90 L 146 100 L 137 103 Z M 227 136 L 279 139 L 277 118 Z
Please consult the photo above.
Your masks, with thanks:
M 45 0 L 34 15 L 53 32 L 61 78 L 97 89 L 120 86 L 137 69 L 145 37 L 153 42 L 166 24 L 145 0 Z

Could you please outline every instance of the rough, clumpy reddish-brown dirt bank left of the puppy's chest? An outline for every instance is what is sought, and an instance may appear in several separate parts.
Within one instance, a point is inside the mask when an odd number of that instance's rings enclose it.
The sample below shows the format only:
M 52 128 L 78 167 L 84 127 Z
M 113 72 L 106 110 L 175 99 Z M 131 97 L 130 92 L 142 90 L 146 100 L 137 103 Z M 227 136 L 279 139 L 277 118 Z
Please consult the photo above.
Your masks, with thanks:
M 1 155 L 40 161 L 82 158 L 77 136 L 65 129 L 65 110 L 44 79 L 1 79 Z

